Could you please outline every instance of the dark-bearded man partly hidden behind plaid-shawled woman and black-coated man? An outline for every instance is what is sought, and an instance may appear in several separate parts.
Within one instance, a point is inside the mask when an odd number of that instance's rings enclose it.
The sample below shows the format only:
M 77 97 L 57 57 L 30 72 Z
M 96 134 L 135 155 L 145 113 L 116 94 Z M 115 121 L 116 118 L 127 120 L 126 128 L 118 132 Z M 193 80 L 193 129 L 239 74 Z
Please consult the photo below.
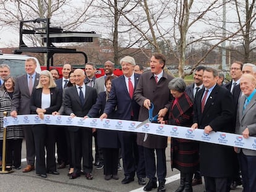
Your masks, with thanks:
M 190 96 L 191 99 L 195 98 L 195 94 L 203 88 L 203 72 L 205 67 L 202 65 L 195 68 L 194 83 L 186 87 L 185 92 Z

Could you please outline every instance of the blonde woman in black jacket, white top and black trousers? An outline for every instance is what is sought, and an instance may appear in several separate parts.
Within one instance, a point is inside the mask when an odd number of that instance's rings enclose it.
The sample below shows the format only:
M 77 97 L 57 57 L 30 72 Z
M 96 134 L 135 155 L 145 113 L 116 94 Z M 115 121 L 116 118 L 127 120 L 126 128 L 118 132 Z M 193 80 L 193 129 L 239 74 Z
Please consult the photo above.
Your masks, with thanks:
M 61 107 L 61 93 L 56 88 L 53 76 L 48 70 L 40 73 L 40 81 L 36 89 L 33 90 L 30 100 L 31 114 L 38 114 L 40 119 L 44 119 L 45 114 L 52 114 Z M 36 152 L 36 174 L 46 178 L 46 172 L 59 175 L 56 171 L 55 143 L 56 133 L 52 125 L 33 125 L 32 131 L 35 137 Z M 46 166 L 45 166 L 46 148 Z

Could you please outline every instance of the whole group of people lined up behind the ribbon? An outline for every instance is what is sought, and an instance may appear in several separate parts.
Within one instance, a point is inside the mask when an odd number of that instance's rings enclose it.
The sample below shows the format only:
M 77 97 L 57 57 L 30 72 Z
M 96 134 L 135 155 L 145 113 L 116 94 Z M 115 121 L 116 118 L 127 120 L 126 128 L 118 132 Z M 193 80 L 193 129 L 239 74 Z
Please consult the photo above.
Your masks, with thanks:
M 220 72 L 198 66 L 194 83 L 186 86 L 182 78 L 174 78 L 164 70 L 165 62 L 163 54 L 154 53 L 150 58 L 151 70 L 142 73 L 134 58 L 125 56 L 120 61 L 123 75 L 116 77 L 113 62 L 107 61 L 105 76 L 100 78 L 95 78 L 92 63 L 85 65 L 85 71 L 72 70 L 70 64 L 65 64 L 63 77 L 59 78 L 56 69 L 36 73 L 35 60 L 27 59 L 27 74 L 16 80 L 9 76 L 8 65 L 2 64 L 1 128 L 3 111 L 12 117 L 37 114 L 43 119 L 45 114 L 52 114 L 142 122 L 148 119 L 153 104 L 153 117 L 158 116 L 158 123 L 200 128 L 206 135 L 212 131 L 237 133 L 244 138 L 255 135 L 255 65 L 234 62 L 230 69 L 233 80 L 226 85 Z M 53 125 L 7 127 L 8 168 L 20 169 L 23 136 L 27 152 L 23 172 L 36 169 L 37 175 L 46 178 L 48 173 L 58 175 L 57 168 L 69 164 L 70 179 L 85 174 L 92 180 L 94 136 L 95 166 L 104 167 L 105 180 L 119 179 L 117 170 L 122 157 L 122 184 L 133 182 L 136 175 L 139 185 L 145 185 L 144 191 L 166 191 L 166 136 Z M 256 191 L 255 156 L 255 151 L 249 149 L 171 138 L 171 168 L 181 172 L 176 192 L 193 191 L 192 186 L 202 183 L 202 176 L 207 192 L 226 192 L 241 183 L 244 192 Z

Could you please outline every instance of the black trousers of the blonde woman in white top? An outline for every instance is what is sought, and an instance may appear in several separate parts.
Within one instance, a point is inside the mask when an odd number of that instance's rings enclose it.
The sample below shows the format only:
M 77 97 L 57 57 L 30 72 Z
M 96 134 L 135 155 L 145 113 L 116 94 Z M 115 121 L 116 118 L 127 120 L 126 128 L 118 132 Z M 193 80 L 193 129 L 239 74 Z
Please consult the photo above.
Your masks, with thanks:
M 36 152 L 36 174 L 56 171 L 55 143 L 56 127 L 52 125 L 33 125 Z M 46 148 L 46 166 L 45 166 Z

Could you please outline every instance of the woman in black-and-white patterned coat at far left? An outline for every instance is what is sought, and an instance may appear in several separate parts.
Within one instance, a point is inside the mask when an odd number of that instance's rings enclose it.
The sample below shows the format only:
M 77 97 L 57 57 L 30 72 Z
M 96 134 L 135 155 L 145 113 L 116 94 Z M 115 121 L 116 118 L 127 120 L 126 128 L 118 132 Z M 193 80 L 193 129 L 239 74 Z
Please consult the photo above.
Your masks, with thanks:
M 3 135 L 3 112 L 7 112 L 7 116 L 11 112 L 11 100 L 14 93 L 15 80 L 13 77 L 7 76 L 0 90 L 0 140 Z M 6 168 L 11 169 L 14 165 L 15 169 L 20 169 L 21 151 L 22 151 L 23 130 L 19 125 L 8 126 L 6 129 Z M 2 151 L 2 150 L 1 150 Z

